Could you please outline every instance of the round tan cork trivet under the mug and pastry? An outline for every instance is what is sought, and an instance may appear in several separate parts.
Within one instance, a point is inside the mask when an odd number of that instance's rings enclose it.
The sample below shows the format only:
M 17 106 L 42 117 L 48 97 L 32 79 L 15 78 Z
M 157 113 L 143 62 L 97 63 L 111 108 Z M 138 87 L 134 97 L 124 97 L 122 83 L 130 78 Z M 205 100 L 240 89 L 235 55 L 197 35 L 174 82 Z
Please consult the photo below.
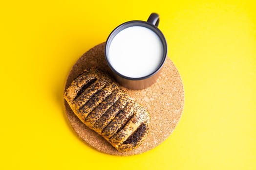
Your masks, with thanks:
M 71 69 L 65 89 L 85 69 L 95 67 L 107 72 L 104 56 L 105 43 L 99 44 L 81 56 Z M 131 97 L 144 106 L 150 114 L 149 134 L 145 141 L 136 149 L 128 152 L 119 152 L 111 146 L 102 136 L 85 126 L 73 113 L 67 102 L 64 102 L 68 120 L 74 131 L 88 145 L 96 150 L 113 155 L 134 155 L 147 152 L 162 143 L 171 135 L 178 124 L 184 105 L 184 89 L 177 68 L 167 58 L 160 77 L 150 87 L 143 90 L 130 90 L 122 87 Z

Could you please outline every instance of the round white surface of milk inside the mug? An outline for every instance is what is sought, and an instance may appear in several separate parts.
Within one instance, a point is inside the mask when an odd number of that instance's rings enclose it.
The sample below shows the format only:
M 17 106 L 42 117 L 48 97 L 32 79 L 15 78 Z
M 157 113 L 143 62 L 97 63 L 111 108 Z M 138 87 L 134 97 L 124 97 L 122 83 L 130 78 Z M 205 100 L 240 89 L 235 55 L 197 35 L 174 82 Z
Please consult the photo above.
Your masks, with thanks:
M 159 67 L 163 51 L 157 34 L 146 27 L 132 26 L 113 38 L 109 46 L 109 62 L 120 74 L 140 78 Z

